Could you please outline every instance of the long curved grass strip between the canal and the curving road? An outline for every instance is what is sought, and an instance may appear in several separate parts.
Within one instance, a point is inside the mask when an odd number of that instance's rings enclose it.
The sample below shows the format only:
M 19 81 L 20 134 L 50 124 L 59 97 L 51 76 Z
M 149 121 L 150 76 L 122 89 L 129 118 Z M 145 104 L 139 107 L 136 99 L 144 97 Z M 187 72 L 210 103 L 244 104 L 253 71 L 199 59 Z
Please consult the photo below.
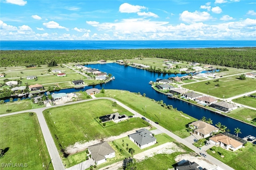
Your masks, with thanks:
M 104 94 L 100 93 L 95 96 L 114 98 L 144 115 L 146 118 L 159 122 L 162 127 L 182 138 L 190 135 L 188 131 L 186 131 L 186 125 L 197 120 L 176 109 L 164 108 L 164 104 L 161 106 L 158 102 L 150 98 L 124 90 L 105 90 Z

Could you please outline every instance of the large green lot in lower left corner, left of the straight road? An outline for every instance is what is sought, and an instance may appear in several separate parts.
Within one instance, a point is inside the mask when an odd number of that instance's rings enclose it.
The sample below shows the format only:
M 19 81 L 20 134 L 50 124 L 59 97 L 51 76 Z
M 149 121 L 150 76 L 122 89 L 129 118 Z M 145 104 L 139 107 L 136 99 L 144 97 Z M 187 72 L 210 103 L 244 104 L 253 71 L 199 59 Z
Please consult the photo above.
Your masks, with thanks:
M 27 164 L 24 169 L 42 170 L 51 160 L 36 113 L 32 116 L 22 113 L 1 117 L 0 139 L 0 146 L 5 151 L 4 156 L 0 158 L 1 163 L 23 163 L 23 166 Z M 48 170 L 53 170 L 52 164 Z

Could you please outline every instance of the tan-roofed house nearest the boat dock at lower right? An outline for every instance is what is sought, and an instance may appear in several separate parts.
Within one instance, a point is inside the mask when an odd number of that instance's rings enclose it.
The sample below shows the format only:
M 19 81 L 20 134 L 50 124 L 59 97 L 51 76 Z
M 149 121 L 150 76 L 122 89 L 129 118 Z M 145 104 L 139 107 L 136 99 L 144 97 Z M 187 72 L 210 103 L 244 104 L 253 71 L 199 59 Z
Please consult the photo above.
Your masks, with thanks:
M 220 147 L 226 150 L 236 151 L 243 147 L 247 143 L 244 139 L 232 135 L 228 132 L 219 133 L 209 139 L 210 143 L 214 145 L 219 145 Z

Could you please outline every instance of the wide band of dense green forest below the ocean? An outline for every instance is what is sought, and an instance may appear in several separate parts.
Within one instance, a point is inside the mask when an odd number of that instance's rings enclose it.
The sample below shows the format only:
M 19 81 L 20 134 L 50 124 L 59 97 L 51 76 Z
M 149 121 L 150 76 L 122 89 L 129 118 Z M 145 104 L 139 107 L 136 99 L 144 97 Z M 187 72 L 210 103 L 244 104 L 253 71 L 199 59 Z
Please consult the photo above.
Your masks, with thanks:
M 89 61 L 124 60 L 136 57 L 158 57 L 176 61 L 196 61 L 204 64 L 256 70 L 256 48 L 210 49 L 114 49 L 114 50 L 47 50 L 0 51 L 0 66 L 28 64 L 84 63 Z

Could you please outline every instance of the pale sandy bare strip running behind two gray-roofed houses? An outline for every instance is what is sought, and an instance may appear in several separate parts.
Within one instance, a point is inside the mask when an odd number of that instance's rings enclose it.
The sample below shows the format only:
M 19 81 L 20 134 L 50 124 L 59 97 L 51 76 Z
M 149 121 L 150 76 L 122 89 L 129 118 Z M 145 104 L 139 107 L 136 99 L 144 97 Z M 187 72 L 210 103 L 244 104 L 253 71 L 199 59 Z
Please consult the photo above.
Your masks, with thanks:
M 128 131 L 128 132 L 125 132 L 125 133 L 122 133 L 121 135 L 118 135 L 118 136 L 111 136 L 111 137 L 108 137 L 108 138 L 104 138 L 103 141 L 114 141 L 116 139 L 120 139 L 120 138 L 123 138 L 123 137 L 126 137 L 132 133 L 135 133 L 136 130 L 139 130 L 139 129 L 142 129 L 142 128 L 137 128 L 137 129 L 133 129 L 132 131 Z M 150 129 L 149 127 L 145 127 L 145 129 Z M 89 146 L 91 145 L 95 145 L 97 143 L 100 143 L 102 142 L 102 140 L 94 140 L 94 141 L 88 141 L 88 142 L 85 142 L 85 143 L 80 143 L 80 142 L 76 142 L 74 145 L 72 146 L 68 146 L 65 150 L 65 152 L 67 154 L 74 154 L 74 153 L 77 153 L 77 152 L 80 152 L 82 150 L 85 150 L 86 148 L 88 148 Z

